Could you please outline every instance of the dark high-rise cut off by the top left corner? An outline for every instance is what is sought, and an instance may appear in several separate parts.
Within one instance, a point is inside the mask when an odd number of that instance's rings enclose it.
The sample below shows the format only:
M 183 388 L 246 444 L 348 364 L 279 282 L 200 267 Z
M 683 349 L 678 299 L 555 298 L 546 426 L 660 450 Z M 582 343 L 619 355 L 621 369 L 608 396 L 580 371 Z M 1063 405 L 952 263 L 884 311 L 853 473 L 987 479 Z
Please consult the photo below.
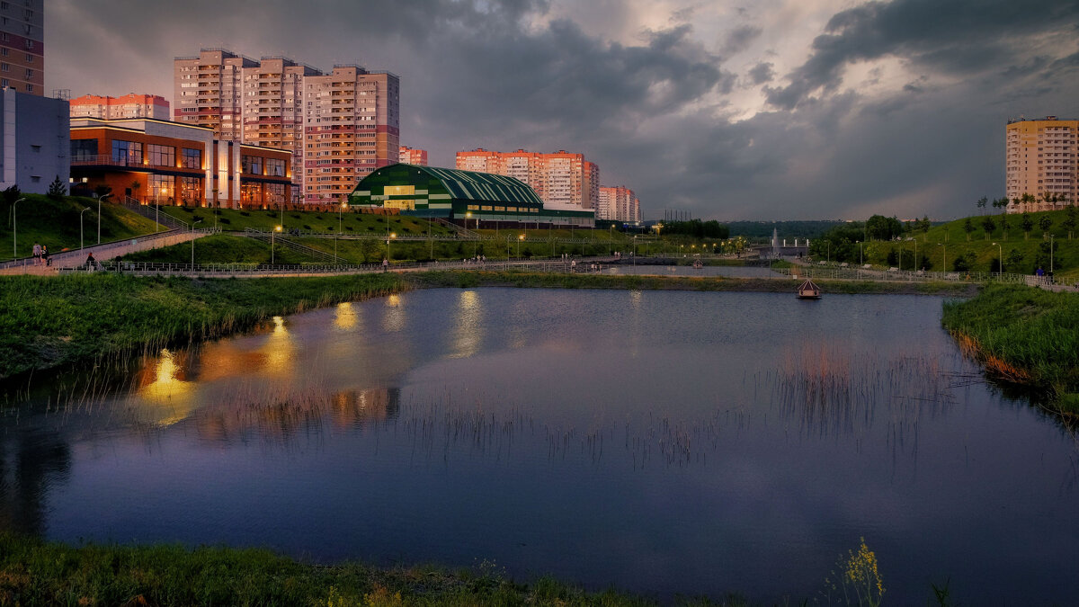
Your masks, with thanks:
M 44 95 L 45 0 L 0 2 L 0 87 Z

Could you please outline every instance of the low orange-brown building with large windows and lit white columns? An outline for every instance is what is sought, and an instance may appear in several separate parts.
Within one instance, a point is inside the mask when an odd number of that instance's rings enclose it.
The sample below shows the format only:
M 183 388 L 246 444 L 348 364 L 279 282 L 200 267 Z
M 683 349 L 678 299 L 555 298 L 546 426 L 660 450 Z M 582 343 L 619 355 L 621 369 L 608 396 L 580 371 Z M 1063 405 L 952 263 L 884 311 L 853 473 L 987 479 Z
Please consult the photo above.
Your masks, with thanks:
M 117 201 L 277 207 L 291 194 L 286 150 L 217 139 L 214 131 L 151 119 L 71 119 L 71 177 Z

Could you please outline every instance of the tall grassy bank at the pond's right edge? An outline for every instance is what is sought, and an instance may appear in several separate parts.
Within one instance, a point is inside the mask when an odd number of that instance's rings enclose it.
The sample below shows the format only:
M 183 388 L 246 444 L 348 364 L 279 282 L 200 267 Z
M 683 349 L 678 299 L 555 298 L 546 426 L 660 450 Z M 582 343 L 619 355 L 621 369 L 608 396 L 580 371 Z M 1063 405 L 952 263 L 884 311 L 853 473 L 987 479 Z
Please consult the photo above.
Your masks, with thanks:
M 989 285 L 944 305 L 944 327 L 997 379 L 1044 392 L 1079 415 L 1079 295 Z

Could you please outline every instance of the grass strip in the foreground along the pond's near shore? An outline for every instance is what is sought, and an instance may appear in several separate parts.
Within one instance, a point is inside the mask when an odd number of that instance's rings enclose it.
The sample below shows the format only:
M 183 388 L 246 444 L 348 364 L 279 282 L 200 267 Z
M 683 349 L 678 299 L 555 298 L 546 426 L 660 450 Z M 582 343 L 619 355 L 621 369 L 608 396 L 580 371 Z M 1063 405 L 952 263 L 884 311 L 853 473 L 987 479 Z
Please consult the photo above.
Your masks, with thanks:
M 318 566 L 265 550 L 66 547 L 0 534 L 0 605 L 654 605 L 479 571 Z M 695 605 L 711 605 L 694 602 Z M 734 603 L 741 605 L 742 603 Z

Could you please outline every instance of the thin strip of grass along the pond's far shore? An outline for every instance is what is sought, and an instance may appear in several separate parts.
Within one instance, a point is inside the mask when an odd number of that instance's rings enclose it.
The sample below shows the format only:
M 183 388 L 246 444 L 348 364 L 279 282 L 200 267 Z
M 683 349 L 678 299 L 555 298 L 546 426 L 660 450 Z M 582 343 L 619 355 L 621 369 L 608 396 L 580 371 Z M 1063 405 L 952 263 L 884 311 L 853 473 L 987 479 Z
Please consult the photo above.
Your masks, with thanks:
M 542 288 L 638 288 L 650 291 L 742 291 L 789 293 L 794 295 L 797 281 L 790 279 L 742 279 L 726 276 L 639 276 L 604 274 L 557 274 L 540 272 L 432 271 L 405 276 L 416 287 L 439 286 L 516 286 Z M 943 282 L 817 281 L 825 294 L 912 294 L 969 297 L 976 293 L 971 284 Z

